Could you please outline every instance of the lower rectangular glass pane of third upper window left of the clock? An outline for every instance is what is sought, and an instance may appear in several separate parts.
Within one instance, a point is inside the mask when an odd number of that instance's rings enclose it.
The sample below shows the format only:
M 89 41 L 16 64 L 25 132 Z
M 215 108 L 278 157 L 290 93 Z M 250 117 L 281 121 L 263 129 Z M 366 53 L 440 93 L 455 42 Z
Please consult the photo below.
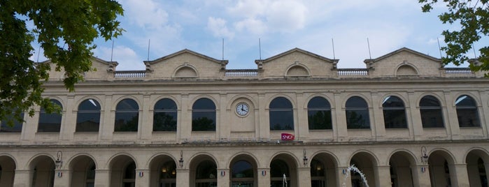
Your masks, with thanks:
M 139 112 L 115 112 L 114 131 L 138 131 Z

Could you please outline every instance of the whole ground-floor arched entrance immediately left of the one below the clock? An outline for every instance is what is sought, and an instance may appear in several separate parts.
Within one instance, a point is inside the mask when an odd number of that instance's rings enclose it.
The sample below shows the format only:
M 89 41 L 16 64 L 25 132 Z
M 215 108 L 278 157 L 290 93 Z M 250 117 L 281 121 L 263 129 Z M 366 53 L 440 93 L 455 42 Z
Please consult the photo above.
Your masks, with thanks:
M 211 156 L 201 155 L 192 159 L 190 163 L 190 186 L 216 187 L 218 186 L 218 166 Z

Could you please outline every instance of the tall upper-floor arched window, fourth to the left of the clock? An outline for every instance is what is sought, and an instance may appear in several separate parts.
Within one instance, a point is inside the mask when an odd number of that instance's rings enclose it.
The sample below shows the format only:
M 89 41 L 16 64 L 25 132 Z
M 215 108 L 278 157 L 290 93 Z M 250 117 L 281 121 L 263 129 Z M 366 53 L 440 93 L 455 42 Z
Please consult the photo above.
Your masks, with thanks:
M 100 105 L 97 100 L 83 100 L 76 114 L 76 132 L 97 132 L 100 125 Z

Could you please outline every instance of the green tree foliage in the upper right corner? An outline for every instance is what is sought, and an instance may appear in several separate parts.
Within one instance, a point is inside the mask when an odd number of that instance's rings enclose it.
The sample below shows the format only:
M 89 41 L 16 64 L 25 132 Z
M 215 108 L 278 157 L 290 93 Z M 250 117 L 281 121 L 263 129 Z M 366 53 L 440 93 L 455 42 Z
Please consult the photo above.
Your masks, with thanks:
M 430 12 L 438 0 L 418 0 L 423 3 L 423 12 Z M 473 44 L 481 38 L 489 36 L 489 3 L 488 0 L 443 0 L 448 10 L 441 13 L 439 19 L 444 24 L 458 22 L 460 30 L 445 30 L 441 34 L 444 36 L 446 47 L 441 50 L 446 52 L 446 57 L 442 58 L 444 64 L 453 63 L 459 66 L 460 63 L 469 60 L 467 52 L 472 49 Z M 470 68 L 474 71 L 489 70 L 489 47 L 484 46 L 479 49 L 480 63 L 471 63 Z M 489 74 L 486 73 L 486 77 Z

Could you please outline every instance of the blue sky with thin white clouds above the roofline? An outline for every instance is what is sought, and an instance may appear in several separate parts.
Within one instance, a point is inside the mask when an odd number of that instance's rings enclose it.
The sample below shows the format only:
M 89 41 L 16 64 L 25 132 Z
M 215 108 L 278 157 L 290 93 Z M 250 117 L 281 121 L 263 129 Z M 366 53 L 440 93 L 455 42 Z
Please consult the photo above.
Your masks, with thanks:
M 418 0 L 120 0 L 125 33 L 115 38 L 113 61 L 117 70 L 143 70 L 143 61 L 183 49 L 229 60 L 228 69 L 256 68 L 267 59 L 295 47 L 329 59 L 339 68 L 364 68 L 371 57 L 401 47 L 440 57 L 444 25 L 435 7 L 423 13 Z M 332 47 L 334 40 L 334 54 Z M 112 41 L 98 39 L 94 56 L 111 60 Z M 477 48 L 480 43 L 476 43 Z M 479 46 L 482 47 L 482 46 Z M 479 54 L 479 52 L 477 52 Z M 469 53 L 474 57 L 474 53 Z

